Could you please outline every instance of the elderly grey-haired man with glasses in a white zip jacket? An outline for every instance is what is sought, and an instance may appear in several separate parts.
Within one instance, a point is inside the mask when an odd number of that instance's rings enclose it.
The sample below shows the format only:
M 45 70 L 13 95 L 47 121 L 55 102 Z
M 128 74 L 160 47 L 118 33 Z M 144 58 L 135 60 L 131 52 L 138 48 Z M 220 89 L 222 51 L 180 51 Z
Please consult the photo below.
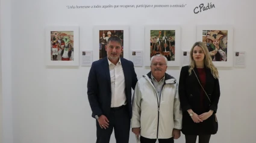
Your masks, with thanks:
M 166 73 L 163 55 L 151 58 L 151 71 L 136 84 L 133 96 L 133 133 L 141 143 L 174 142 L 180 138 L 182 112 L 176 79 Z

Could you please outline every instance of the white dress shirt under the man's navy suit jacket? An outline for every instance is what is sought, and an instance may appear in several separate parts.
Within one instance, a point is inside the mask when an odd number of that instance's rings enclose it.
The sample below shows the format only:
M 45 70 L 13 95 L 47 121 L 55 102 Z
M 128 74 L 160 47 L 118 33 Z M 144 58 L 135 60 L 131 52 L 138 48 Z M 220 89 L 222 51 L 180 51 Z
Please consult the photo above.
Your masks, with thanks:
M 108 59 L 108 65 L 111 81 L 111 108 L 126 105 L 125 76 L 120 58 L 116 65 Z

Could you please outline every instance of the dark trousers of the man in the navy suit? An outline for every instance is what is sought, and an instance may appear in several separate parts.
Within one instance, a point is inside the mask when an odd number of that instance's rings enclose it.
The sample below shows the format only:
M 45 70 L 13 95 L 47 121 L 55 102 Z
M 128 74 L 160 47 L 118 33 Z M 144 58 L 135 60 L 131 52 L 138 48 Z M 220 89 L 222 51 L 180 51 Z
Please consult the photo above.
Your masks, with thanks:
M 111 108 L 110 116 L 108 117 L 107 129 L 101 129 L 98 121 L 96 120 L 97 127 L 97 141 L 96 143 L 109 143 L 110 136 L 114 129 L 114 136 L 116 137 L 116 143 L 128 143 L 130 136 L 130 116 L 128 113 L 127 105 L 121 108 Z

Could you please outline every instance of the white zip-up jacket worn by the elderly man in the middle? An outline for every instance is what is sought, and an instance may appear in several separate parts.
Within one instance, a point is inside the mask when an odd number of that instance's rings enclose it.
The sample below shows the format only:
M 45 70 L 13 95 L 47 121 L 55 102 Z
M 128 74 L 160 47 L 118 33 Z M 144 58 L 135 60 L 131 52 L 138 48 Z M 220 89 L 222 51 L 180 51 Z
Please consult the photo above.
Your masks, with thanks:
M 172 130 L 182 128 L 178 83 L 168 76 L 165 80 L 161 97 L 156 95 L 157 89 L 147 75 L 139 79 L 134 89 L 131 128 L 140 127 L 140 135 L 145 138 L 172 138 Z

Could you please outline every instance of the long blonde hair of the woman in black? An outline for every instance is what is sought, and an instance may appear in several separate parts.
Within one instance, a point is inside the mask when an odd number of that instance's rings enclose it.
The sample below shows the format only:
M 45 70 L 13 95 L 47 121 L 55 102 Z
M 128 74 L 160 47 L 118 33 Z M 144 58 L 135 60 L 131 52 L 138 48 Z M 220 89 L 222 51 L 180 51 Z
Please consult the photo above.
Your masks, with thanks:
M 195 68 L 195 60 L 193 59 L 193 50 L 195 46 L 202 47 L 202 50 L 204 51 L 204 65 L 205 67 L 209 68 L 211 70 L 211 74 L 213 75 L 214 78 L 219 78 L 219 72 L 217 68 L 213 65 L 213 62 L 211 60 L 210 53 L 205 46 L 204 43 L 201 41 L 197 41 L 193 46 L 192 49 L 190 50 L 190 68 L 189 68 L 189 75 L 191 75 L 193 68 Z

